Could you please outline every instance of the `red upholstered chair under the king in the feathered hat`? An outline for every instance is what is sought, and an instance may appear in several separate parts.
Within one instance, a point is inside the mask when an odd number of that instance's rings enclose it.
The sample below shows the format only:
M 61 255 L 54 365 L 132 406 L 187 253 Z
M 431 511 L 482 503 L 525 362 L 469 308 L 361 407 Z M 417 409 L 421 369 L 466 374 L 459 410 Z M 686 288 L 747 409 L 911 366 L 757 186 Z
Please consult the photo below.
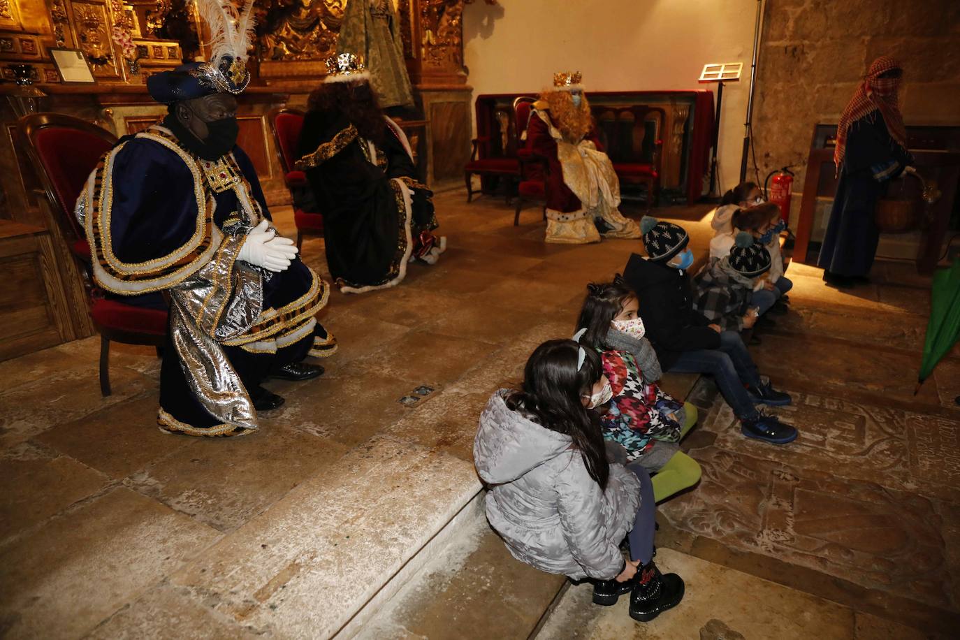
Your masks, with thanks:
M 90 315 L 100 333 L 100 391 L 110 394 L 110 341 L 150 344 L 159 349 L 166 340 L 167 311 L 108 299 L 92 286 L 90 248 L 84 229 L 73 215 L 74 204 L 100 156 L 116 143 L 107 130 L 59 113 L 36 113 L 17 122 L 17 137 L 27 151 L 46 201 L 67 247 L 82 267 L 84 287 L 90 293 Z

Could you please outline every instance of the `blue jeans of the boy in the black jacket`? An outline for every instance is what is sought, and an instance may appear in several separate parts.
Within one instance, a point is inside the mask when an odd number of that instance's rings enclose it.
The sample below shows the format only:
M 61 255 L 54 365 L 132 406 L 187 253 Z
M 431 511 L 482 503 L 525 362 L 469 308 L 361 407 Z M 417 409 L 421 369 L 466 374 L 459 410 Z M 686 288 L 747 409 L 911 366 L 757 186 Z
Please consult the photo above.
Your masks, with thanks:
M 737 417 L 753 418 L 757 411 L 744 385 L 757 387 L 760 374 L 746 344 L 735 331 L 720 333 L 720 347 L 686 351 L 670 367 L 674 373 L 709 373 Z

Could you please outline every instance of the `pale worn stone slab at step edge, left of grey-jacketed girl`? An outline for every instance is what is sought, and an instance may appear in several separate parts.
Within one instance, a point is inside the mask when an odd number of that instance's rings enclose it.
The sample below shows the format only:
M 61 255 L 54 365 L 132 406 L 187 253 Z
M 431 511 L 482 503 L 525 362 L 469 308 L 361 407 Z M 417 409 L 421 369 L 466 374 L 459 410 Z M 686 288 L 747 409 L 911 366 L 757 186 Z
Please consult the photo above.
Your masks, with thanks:
M 468 462 L 375 439 L 172 581 L 242 624 L 281 637 L 328 637 L 479 488 Z M 403 500 L 392 496 L 397 489 Z M 238 566 L 237 557 L 252 561 Z

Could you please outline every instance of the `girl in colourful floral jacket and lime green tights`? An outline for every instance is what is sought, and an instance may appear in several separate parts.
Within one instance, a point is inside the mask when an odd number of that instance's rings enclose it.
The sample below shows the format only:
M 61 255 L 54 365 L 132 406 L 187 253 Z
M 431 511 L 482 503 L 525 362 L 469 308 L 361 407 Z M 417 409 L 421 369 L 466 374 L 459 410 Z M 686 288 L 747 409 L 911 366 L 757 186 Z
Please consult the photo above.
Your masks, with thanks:
M 600 354 L 613 397 L 601 416 L 604 438 L 621 444 L 627 460 L 653 476 L 657 502 L 694 486 L 700 465 L 680 450 L 679 442 L 697 421 L 697 409 L 678 402 L 660 389 L 660 365 L 653 346 L 644 337 L 643 320 L 636 314 L 634 292 L 619 273 L 613 282 L 588 284 L 578 326 L 585 328 L 580 344 Z

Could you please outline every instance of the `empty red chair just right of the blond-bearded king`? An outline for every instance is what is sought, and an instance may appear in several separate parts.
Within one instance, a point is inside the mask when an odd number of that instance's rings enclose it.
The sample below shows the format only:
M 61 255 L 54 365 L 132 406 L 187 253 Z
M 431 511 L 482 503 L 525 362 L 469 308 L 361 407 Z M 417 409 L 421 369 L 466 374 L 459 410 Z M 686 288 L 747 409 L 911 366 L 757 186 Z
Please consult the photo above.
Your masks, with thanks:
M 660 150 L 663 146 L 660 131 L 666 119 L 666 111 L 660 107 L 645 105 L 600 105 L 592 107 L 592 111 L 600 130 L 601 141 L 613 163 L 613 171 L 621 183 L 645 185 L 649 213 L 660 191 Z M 652 119 L 651 115 L 659 117 Z M 649 154 L 644 154 L 643 141 L 649 121 L 656 123 L 656 136 L 649 145 Z

